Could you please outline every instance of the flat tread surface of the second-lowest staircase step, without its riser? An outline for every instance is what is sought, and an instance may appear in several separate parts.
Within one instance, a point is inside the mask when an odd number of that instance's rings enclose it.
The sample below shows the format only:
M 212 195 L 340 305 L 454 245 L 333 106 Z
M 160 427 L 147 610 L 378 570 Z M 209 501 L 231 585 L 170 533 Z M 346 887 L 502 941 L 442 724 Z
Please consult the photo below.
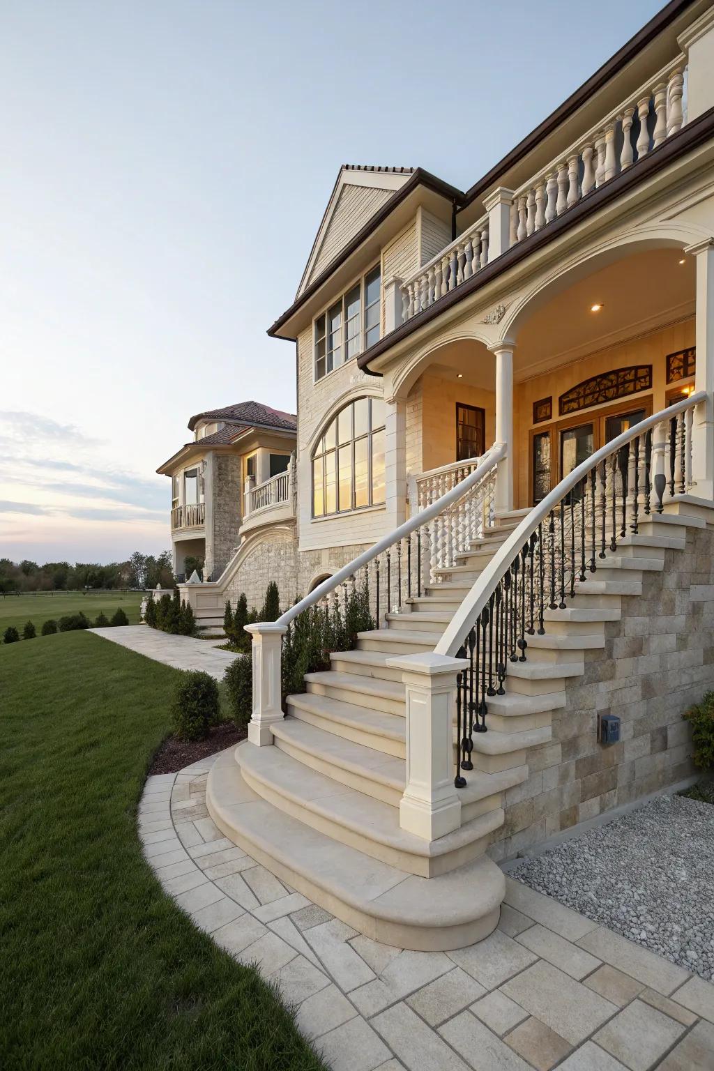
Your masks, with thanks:
M 427 841 L 401 828 L 398 808 L 318 773 L 278 748 L 257 748 L 246 743 L 240 748 L 237 758 L 244 778 L 258 781 L 274 796 L 298 805 L 302 813 L 312 813 L 339 828 L 351 830 L 366 842 L 384 845 L 407 856 L 432 859 L 449 855 L 503 825 L 503 811 L 497 808 L 436 841 Z

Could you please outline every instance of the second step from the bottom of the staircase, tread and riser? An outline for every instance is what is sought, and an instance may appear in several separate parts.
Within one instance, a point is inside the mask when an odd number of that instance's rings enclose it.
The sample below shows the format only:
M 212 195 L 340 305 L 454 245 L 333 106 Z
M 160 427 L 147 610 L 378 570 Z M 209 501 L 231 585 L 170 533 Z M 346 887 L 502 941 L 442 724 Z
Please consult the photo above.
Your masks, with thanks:
M 503 825 L 498 808 L 426 841 L 401 829 L 398 808 L 310 770 L 278 748 L 248 743 L 238 750 L 237 759 L 243 780 L 278 810 L 409 874 L 434 877 L 471 861 Z

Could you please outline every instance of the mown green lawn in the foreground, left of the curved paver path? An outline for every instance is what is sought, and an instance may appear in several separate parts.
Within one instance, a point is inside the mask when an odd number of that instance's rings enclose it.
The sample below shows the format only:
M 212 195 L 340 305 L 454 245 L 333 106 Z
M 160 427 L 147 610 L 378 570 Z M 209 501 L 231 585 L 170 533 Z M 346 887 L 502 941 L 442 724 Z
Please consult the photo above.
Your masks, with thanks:
M 0 647 L 3 1071 L 322 1068 L 142 857 L 176 674 L 83 632 Z

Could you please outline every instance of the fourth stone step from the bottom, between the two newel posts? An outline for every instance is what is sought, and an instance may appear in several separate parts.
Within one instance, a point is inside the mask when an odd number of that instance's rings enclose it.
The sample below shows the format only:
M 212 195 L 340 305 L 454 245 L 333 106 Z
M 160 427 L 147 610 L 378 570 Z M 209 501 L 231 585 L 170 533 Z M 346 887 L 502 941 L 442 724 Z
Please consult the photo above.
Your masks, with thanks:
M 353 703 L 331 699 L 310 692 L 289 695 L 291 716 L 365 748 L 374 748 L 395 758 L 405 757 L 406 722 L 404 716 L 368 710 Z

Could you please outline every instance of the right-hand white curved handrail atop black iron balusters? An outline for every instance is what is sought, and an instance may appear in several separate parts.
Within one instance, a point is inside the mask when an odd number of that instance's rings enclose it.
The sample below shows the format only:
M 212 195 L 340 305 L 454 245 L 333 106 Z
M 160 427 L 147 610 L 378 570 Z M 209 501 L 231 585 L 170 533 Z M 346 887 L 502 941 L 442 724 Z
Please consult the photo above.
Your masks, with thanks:
M 610 442 L 607 442 L 604 447 L 601 447 L 599 450 L 595 451 L 594 454 L 591 454 L 590 457 L 564 477 L 560 483 L 553 487 L 548 495 L 546 495 L 542 502 L 538 502 L 537 506 L 533 507 L 531 512 L 523 517 L 521 523 L 511 533 L 508 539 L 501 544 L 499 550 L 480 574 L 478 578 L 471 588 L 471 591 L 468 593 L 456 614 L 454 614 L 449 628 L 435 648 L 435 654 L 446 654 L 452 658 L 456 654 L 461 647 L 464 636 L 478 619 L 478 615 L 488 603 L 490 597 L 498 587 L 499 582 L 510 568 L 516 555 L 522 549 L 527 541 L 530 540 L 533 532 L 537 530 L 538 525 L 543 524 L 543 522 L 548 517 L 550 511 L 562 502 L 565 496 L 580 483 L 583 477 L 591 472 L 592 469 L 599 465 L 601 462 L 617 453 L 618 450 L 627 446 L 627 443 L 632 442 L 633 439 L 639 438 L 645 432 L 650 431 L 650 428 L 655 427 L 657 424 L 662 424 L 664 421 L 670 420 L 672 417 L 677 417 L 679 413 L 684 412 L 687 409 L 692 409 L 696 405 L 699 405 L 699 403 L 705 401 L 707 392 L 698 391 L 696 394 L 690 394 L 689 397 L 684 401 L 678 402 L 675 405 L 671 405 L 667 409 L 662 409 L 652 417 L 647 417 L 644 420 L 640 421 L 639 424 L 635 424 L 628 431 L 623 432 L 622 435 L 619 435 Z

